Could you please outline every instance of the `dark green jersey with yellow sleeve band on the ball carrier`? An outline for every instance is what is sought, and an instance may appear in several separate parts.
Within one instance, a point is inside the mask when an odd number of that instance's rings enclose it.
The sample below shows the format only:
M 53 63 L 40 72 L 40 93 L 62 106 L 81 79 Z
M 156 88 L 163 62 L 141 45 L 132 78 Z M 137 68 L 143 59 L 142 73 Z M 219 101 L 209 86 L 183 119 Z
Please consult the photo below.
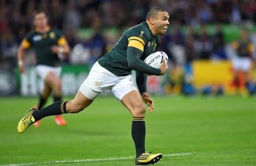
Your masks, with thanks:
M 112 50 L 106 53 L 98 63 L 117 76 L 127 76 L 131 70 L 127 63 L 127 47 L 135 47 L 141 50 L 141 60 L 155 52 L 159 47 L 160 39 L 154 36 L 147 22 L 142 22 L 137 26 L 131 27 L 123 32 L 122 37 Z

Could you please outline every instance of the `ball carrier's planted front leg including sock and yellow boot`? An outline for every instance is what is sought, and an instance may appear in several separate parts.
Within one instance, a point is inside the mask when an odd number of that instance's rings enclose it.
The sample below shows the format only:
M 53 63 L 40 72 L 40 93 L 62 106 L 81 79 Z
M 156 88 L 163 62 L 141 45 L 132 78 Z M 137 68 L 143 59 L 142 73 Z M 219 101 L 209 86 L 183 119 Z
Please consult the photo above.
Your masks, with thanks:
M 162 154 L 150 154 L 145 151 L 146 127 L 144 116 L 146 108 L 143 105 L 141 94 L 137 90 L 133 90 L 127 93 L 121 101 L 133 115 L 131 135 L 136 148 L 135 164 L 147 165 L 158 162 L 162 158 Z

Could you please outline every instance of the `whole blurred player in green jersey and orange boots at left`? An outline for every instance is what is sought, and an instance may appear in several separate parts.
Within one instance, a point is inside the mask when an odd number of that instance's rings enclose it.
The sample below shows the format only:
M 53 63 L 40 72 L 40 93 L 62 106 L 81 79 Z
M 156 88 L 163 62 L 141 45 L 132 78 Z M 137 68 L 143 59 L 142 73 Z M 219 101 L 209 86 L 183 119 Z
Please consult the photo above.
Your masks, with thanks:
M 43 92 L 39 95 L 37 106 L 37 109 L 40 110 L 52 91 L 54 101 L 61 100 L 61 67 L 58 54 L 68 55 L 70 48 L 63 34 L 49 27 L 44 11 L 34 11 L 33 20 L 35 30 L 29 32 L 19 46 L 18 65 L 20 72 L 23 73 L 25 70 L 24 51 L 25 49 L 33 48 L 36 55 L 36 73 L 44 80 Z M 56 115 L 55 123 L 60 126 L 66 124 L 65 119 L 61 115 Z M 37 121 L 34 125 L 38 127 L 40 121 Z

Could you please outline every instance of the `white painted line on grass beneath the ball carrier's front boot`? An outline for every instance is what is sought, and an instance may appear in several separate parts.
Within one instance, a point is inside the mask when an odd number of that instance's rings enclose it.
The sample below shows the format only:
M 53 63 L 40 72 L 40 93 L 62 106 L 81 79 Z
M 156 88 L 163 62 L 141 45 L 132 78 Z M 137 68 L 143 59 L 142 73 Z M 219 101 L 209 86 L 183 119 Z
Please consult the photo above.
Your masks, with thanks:
M 164 157 L 168 156 L 185 156 L 192 155 L 191 152 L 187 153 L 172 153 L 163 155 Z M 22 164 L 5 164 L 0 166 L 20 166 L 20 165 L 35 165 L 35 164 L 58 164 L 58 163 L 86 163 L 93 161 L 114 161 L 114 160 L 126 160 L 126 159 L 134 159 L 134 157 L 114 157 L 114 158 L 105 158 L 105 159 L 82 159 L 82 160 L 57 160 L 57 161 L 42 161 L 35 163 L 22 163 Z

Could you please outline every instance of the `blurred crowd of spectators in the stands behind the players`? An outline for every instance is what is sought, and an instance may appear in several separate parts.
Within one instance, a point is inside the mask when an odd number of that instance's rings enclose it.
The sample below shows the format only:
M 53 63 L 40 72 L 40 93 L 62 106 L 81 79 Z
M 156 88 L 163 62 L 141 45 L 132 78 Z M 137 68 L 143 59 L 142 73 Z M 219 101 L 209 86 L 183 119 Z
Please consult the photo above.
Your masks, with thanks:
M 236 42 L 256 47 L 255 0 L 1 0 L 0 64 L 16 67 L 16 51 L 33 28 L 34 10 L 46 11 L 50 26 L 67 38 L 72 53 L 64 63 L 91 65 L 113 47 L 124 30 L 143 22 L 154 6 L 170 14 L 170 27 L 161 37 L 159 50 L 170 56 L 173 67 L 185 68 L 197 59 L 232 59 L 237 56 Z M 226 25 L 238 29 L 236 38 L 226 38 Z M 246 46 L 246 56 L 253 62 L 256 52 L 251 48 Z M 28 65 L 35 64 L 33 57 L 28 56 Z

